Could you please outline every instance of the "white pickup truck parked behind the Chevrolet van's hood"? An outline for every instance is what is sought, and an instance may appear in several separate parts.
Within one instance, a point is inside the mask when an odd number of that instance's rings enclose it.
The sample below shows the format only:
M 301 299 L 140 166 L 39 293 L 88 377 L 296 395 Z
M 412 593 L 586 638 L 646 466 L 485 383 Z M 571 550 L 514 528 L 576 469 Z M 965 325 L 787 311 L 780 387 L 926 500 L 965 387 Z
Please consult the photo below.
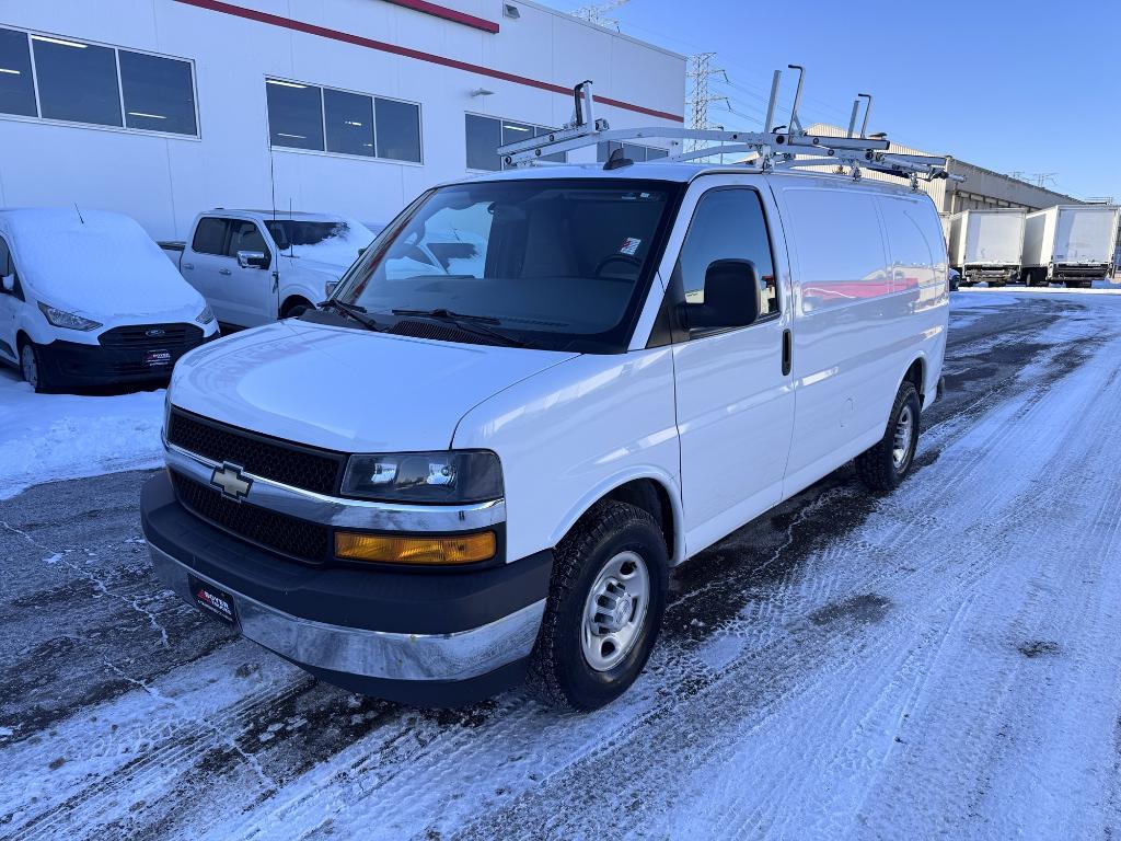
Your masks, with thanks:
M 198 214 L 186 242 L 160 246 L 221 323 L 253 327 L 328 297 L 373 235 L 328 213 L 220 207 Z

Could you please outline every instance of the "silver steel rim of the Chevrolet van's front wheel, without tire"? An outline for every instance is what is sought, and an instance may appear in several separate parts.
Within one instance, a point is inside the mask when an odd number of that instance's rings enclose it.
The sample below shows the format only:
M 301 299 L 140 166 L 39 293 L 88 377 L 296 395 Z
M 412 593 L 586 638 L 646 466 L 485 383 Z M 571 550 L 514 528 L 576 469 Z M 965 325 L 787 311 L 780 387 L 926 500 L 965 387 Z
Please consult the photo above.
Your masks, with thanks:
M 587 665 L 608 672 L 630 654 L 646 622 L 650 572 L 634 552 L 620 552 L 600 570 L 584 602 L 581 647 Z

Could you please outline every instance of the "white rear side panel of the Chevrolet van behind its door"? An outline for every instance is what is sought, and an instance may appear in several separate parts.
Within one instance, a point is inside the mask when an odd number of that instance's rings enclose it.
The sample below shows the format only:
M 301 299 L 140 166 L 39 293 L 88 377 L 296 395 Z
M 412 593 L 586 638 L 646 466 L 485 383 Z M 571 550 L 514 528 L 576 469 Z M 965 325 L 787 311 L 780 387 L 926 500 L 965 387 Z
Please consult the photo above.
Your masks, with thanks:
M 805 176 L 772 185 L 795 289 L 788 497 L 883 435 L 916 359 L 933 399 L 948 318 L 946 249 L 924 194 Z

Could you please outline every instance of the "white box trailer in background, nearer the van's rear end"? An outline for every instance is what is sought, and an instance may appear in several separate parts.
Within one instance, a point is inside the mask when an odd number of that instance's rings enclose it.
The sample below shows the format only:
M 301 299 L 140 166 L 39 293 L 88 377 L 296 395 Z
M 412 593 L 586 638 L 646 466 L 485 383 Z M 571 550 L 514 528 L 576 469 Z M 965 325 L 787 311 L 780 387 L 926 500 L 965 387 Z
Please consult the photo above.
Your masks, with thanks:
M 1003 286 L 1020 277 L 1025 211 L 967 210 L 949 218 L 949 265 L 966 286 Z

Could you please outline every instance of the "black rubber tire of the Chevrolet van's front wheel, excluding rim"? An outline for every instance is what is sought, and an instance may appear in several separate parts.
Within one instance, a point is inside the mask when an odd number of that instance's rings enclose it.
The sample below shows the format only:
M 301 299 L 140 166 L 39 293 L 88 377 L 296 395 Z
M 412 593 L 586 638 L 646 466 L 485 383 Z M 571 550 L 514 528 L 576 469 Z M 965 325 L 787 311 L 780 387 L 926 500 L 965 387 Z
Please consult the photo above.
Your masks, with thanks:
M 624 552 L 638 554 L 646 564 L 647 607 L 626 656 L 613 668 L 596 671 L 582 643 L 585 606 L 600 572 Z M 556 548 L 549 597 L 529 666 L 529 683 L 537 694 L 553 706 L 595 710 L 626 692 L 658 638 L 668 581 L 666 539 L 647 511 L 605 500 L 584 515 Z

